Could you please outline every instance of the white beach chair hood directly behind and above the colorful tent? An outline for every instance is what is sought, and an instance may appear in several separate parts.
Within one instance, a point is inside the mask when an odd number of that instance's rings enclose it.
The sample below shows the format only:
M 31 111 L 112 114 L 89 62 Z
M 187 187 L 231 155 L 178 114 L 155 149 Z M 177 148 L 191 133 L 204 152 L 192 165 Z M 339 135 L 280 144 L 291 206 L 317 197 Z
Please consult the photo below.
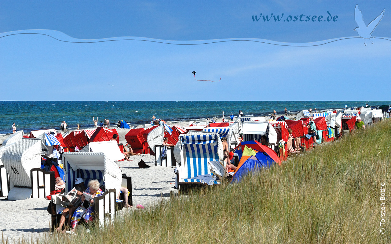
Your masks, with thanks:
M 242 123 L 243 141 L 260 141 L 266 135 L 269 143 L 277 142 L 277 132 L 268 121 L 244 121 Z

